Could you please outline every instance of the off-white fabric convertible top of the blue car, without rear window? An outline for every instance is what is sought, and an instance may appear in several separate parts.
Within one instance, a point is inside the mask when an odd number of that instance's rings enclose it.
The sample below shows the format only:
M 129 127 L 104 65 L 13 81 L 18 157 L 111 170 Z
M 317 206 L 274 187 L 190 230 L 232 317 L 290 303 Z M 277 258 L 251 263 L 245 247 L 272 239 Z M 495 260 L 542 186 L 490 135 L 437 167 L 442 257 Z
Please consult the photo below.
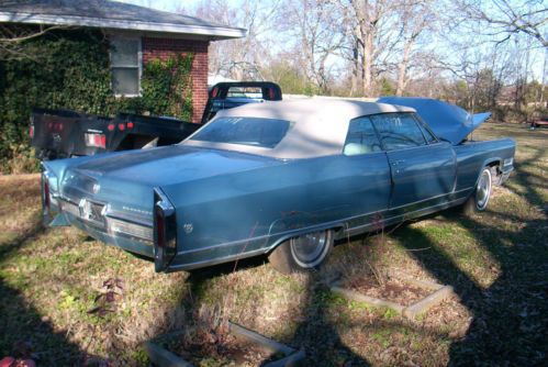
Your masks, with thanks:
M 192 135 L 182 144 L 236 151 L 273 158 L 313 158 L 343 152 L 348 123 L 362 115 L 387 112 L 414 112 L 407 107 L 361 102 L 344 99 L 302 99 L 278 102 L 248 103 L 219 111 L 217 118 L 262 118 L 292 122 L 286 136 L 273 148 L 251 145 L 193 141 Z

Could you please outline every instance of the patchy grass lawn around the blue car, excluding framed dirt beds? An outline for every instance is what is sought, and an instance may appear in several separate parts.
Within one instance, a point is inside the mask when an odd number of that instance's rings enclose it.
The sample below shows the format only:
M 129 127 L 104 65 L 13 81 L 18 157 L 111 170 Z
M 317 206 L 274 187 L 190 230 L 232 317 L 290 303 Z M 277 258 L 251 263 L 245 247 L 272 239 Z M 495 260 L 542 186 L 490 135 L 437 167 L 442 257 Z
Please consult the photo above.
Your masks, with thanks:
M 548 131 L 492 123 L 474 133 L 499 136 L 516 140 L 516 171 L 485 212 L 349 238 L 309 275 L 280 275 L 264 259 L 158 275 L 80 231 L 44 229 L 36 175 L 0 177 L 0 358 L 146 366 L 144 341 L 215 314 L 304 348 L 310 366 L 543 365 Z M 336 276 L 382 282 L 396 273 L 451 285 L 456 296 L 410 321 L 326 287 Z

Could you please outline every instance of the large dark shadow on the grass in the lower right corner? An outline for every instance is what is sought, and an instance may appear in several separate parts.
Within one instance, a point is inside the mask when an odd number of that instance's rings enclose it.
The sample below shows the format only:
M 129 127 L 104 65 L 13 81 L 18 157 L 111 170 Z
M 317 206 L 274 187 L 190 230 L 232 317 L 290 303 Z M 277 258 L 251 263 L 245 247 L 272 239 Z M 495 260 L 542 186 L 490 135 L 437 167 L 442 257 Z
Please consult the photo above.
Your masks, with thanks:
M 448 214 L 449 219 L 455 215 Z M 541 365 L 548 355 L 546 222 L 532 221 L 513 233 L 482 223 L 483 215 L 455 219 L 500 264 L 502 275 L 488 289 L 481 289 L 422 231 L 406 226 L 394 237 L 407 249 L 432 247 L 412 254 L 441 283 L 451 285 L 473 314 L 466 337 L 451 344 L 449 365 Z M 511 245 L 503 245 L 501 238 Z

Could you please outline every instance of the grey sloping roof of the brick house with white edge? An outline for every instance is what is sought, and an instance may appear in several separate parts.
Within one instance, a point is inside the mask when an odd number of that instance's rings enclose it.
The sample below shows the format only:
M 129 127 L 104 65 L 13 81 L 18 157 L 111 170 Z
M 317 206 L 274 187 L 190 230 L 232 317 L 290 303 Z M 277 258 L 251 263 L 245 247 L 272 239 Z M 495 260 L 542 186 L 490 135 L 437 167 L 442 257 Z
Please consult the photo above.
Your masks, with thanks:
M 109 0 L 0 0 L 0 22 L 77 25 L 239 38 L 246 30 Z

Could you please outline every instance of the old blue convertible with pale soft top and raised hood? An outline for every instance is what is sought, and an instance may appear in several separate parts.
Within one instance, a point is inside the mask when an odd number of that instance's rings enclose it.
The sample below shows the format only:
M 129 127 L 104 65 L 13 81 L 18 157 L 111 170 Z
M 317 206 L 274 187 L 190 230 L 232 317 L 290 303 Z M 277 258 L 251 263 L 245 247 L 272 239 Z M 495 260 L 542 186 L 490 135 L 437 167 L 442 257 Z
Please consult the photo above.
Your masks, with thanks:
M 261 254 L 281 271 L 313 268 L 337 238 L 485 209 L 515 151 L 468 138 L 488 116 L 415 98 L 248 104 L 177 145 L 44 163 L 44 215 L 157 271 Z

